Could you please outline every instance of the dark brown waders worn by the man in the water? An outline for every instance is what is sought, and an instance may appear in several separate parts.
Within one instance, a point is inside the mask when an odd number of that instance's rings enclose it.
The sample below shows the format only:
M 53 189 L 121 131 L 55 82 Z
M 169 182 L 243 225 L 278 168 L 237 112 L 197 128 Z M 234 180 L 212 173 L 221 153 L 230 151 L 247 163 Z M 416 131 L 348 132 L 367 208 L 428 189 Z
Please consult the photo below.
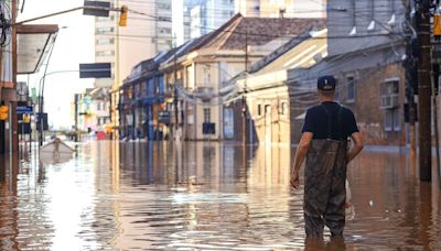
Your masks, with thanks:
M 347 142 L 313 140 L 304 172 L 304 228 L 322 237 L 324 225 L 341 236 L 345 226 Z

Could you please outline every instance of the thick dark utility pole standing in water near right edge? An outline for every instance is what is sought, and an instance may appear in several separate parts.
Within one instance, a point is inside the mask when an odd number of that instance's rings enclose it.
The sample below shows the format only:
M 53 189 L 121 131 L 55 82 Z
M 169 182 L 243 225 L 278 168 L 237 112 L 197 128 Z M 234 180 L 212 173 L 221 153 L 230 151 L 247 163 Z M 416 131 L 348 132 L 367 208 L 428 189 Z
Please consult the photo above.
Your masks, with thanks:
M 432 178 L 432 139 L 431 139 L 431 42 L 430 42 L 430 1 L 417 2 L 417 33 L 420 53 L 418 57 L 418 110 L 419 110 L 419 164 L 420 181 Z

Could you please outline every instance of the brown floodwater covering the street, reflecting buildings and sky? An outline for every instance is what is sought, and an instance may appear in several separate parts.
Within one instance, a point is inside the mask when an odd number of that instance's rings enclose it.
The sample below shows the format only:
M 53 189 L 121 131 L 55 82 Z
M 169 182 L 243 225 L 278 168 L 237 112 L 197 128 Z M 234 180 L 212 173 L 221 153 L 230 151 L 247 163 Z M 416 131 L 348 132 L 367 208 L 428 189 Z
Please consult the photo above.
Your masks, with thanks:
M 349 165 L 344 240 L 305 241 L 293 149 L 87 142 L 71 160 L 24 153 L 0 177 L 0 250 L 441 250 L 438 181 L 406 153 Z M 17 164 L 17 163 L 15 163 Z M 12 163 L 12 166 L 14 163 Z M 437 176 L 433 174 L 433 176 Z

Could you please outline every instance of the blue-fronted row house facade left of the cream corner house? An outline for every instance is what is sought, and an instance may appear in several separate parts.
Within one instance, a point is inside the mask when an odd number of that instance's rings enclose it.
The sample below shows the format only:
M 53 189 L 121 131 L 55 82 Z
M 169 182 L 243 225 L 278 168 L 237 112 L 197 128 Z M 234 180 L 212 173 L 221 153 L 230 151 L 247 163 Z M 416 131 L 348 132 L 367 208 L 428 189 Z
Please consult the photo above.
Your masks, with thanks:
M 173 57 L 176 50 L 143 61 L 133 67 L 120 89 L 120 138 L 127 140 L 166 140 L 172 127 L 172 89 L 161 63 Z

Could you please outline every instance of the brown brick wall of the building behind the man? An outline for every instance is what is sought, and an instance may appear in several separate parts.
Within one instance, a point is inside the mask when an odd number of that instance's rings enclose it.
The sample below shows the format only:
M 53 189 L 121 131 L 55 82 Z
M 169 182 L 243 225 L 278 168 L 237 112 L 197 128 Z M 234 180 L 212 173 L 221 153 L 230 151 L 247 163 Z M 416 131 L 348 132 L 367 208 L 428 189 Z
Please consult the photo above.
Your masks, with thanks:
M 406 145 L 406 124 L 404 116 L 405 97 L 405 69 L 401 64 L 389 64 L 386 66 L 366 68 L 353 72 L 342 72 L 334 75 L 337 78 L 337 99 L 353 110 L 357 120 L 358 128 L 363 133 L 366 144 L 372 145 Z M 354 77 L 355 98 L 354 101 L 347 99 L 347 77 Z M 399 131 L 385 130 L 386 109 L 380 108 L 381 84 L 386 79 L 399 79 Z M 292 142 L 298 143 L 301 137 L 303 120 L 294 118 L 301 114 L 301 107 L 304 102 L 299 102 L 295 97 L 291 97 L 291 123 Z

